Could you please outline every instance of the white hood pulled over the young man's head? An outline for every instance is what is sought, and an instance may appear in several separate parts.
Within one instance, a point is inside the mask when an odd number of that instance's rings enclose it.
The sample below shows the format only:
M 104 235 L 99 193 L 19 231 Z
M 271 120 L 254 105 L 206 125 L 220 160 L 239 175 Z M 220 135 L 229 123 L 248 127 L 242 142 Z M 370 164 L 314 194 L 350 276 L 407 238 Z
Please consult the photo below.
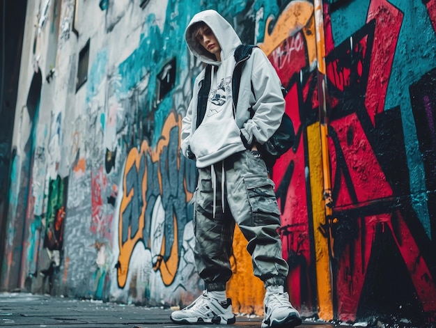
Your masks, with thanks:
M 208 50 L 193 38 L 193 25 L 197 22 L 205 22 L 205 24 L 208 24 L 212 32 L 215 34 L 215 38 L 217 38 L 217 41 L 219 42 L 219 47 L 221 47 L 221 61 L 226 60 L 228 56 L 233 56 L 235 48 L 242 44 L 238 34 L 224 17 L 219 15 L 215 10 L 201 11 L 194 15 L 191 22 L 189 22 L 187 29 L 185 30 L 185 40 L 192 54 L 200 58 L 203 63 L 218 65 L 220 62 L 217 61 L 214 54 L 208 52 Z

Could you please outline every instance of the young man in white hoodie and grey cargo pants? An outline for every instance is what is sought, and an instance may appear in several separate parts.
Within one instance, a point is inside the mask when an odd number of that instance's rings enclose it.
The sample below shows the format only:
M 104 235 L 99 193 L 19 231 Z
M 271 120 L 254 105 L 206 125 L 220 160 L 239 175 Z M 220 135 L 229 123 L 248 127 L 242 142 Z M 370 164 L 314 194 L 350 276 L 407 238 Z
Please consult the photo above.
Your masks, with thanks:
M 187 308 L 173 312 L 171 320 L 235 322 L 226 282 L 232 274 L 229 256 L 236 223 L 247 238 L 254 274 L 265 284 L 262 327 L 295 327 L 301 318 L 283 290 L 288 264 L 277 231 L 280 212 L 274 182 L 256 151 L 256 144 L 267 141 L 281 123 L 281 82 L 259 48 L 236 63 L 240 38 L 215 10 L 194 15 L 185 38 L 192 54 L 211 65 L 196 77 L 181 134 L 182 153 L 195 159 L 198 168 L 194 253 L 206 290 Z M 240 81 L 235 81 L 234 70 L 242 64 Z M 237 83 L 239 92 L 233 95 Z

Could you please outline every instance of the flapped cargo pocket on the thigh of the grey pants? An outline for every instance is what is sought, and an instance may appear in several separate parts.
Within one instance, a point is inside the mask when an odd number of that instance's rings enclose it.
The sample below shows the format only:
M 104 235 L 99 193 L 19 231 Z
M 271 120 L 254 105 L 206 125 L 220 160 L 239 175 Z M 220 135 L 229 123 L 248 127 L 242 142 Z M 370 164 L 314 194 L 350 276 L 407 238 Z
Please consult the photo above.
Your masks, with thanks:
M 244 177 L 251 212 L 256 214 L 270 214 L 280 216 L 279 205 L 274 193 L 274 182 L 263 175 L 249 175 Z

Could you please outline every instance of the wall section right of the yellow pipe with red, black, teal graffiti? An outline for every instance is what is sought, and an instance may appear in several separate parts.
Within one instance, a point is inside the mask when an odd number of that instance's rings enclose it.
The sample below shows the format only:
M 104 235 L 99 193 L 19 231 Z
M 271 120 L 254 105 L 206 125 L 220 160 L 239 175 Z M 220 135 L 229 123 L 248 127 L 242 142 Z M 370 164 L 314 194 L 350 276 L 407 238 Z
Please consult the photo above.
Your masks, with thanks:
M 336 309 L 434 318 L 436 2 L 349 2 L 325 20 Z

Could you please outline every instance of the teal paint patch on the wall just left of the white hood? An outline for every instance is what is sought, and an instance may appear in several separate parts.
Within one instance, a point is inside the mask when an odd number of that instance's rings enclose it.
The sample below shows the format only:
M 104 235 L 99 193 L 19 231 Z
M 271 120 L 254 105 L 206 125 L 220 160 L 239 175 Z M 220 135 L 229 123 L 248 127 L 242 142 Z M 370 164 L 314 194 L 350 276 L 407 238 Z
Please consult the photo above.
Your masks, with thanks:
M 157 74 L 171 58 L 176 58 L 177 70 L 187 70 L 187 47 L 185 45 L 185 26 L 193 13 L 201 10 L 198 3 L 180 3 L 169 1 L 166 7 L 165 24 L 161 31 L 157 19 L 152 13 L 146 18 L 146 30 L 139 39 L 139 45 L 132 54 L 118 66 L 121 77 L 120 84 L 114 90 L 118 99 L 127 97 L 127 94 L 147 79 L 146 95 L 139 111 L 142 117 L 148 117 L 153 112 L 154 134 L 150 144 L 155 146 L 162 132 L 164 119 L 173 110 L 174 104 L 171 92 L 156 106 Z M 176 74 L 176 85 L 180 85 L 180 74 Z M 136 122 L 139 124 L 139 122 Z

